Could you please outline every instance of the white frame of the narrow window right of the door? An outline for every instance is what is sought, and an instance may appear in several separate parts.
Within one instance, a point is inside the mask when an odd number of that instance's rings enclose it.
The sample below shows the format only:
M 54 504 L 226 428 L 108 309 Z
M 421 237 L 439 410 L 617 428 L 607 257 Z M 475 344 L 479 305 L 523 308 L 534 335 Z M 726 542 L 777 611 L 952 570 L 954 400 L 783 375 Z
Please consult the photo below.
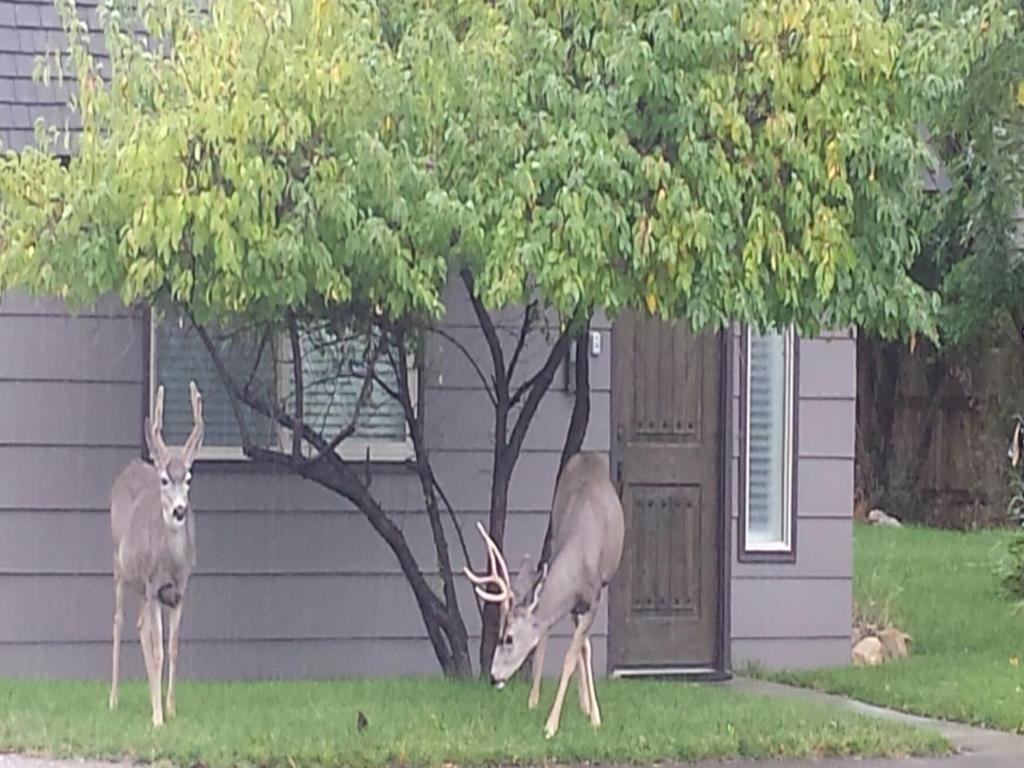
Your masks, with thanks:
M 795 527 L 795 516 L 796 516 L 796 499 L 794 498 L 795 492 L 795 478 L 796 478 L 796 461 L 794 446 L 796 444 L 795 430 L 796 430 L 796 417 L 797 409 L 800 403 L 797 401 L 797 382 L 796 382 L 796 351 L 797 351 L 797 337 L 796 332 L 793 327 L 786 328 L 783 332 L 783 353 L 785 355 L 785 371 L 784 371 L 784 385 L 783 385 L 783 397 L 784 397 L 784 419 L 783 419 L 783 429 L 784 434 L 782 437 L 782 453 L 783 453 L 783 467 L 782 467 L 782 539 L 781 541 L 774 542 L 755 542 L 751 541 L 750 536 L 750 508 L 751 508 L 751 345 L 753 344 L 754 336 L 756 334 L 748 329 L 743 334 L 743 460 L 740 466 L 740 471 L 743 473 L 742 476 L 742 487 L 743 487 L 743 499 L 742 499 L 742 514 L 740 515 L 740 520 L 743 525 L 743 553 L 752 555 L 793 555 L 795 554 L 794 547 L 794 527 Z

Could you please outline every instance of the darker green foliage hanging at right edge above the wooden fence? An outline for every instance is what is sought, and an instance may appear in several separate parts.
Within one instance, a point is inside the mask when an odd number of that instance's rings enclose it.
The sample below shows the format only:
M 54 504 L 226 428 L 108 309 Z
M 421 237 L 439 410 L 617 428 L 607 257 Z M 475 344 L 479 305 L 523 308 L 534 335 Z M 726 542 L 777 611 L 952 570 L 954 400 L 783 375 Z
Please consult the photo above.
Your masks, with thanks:
M 948 16 L 948 5 L 908 3 L 931 18 Z M 985 3 L 968 8 L 981 23 L 991 15 Z M 1024 325 L 1024 19 L 1010 20 L 1010 34 L 967 62 L 964 88 L 931 120 L 949 188 L 928 201 L 919 270 L 942 296 L 950 347 L 976 343 L 1008 316 Z

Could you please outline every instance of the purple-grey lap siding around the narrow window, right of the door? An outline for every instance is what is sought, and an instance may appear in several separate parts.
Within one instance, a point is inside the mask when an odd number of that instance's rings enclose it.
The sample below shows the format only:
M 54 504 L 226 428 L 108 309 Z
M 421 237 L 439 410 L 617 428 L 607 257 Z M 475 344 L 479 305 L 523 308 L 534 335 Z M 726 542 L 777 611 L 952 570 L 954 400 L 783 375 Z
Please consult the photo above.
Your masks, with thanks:
M 834 332 L 800 344 L 797 559 L 738 558 L 739 337 L 733 356 L 732 665 L 844 665 L 850 655 L 856 343 Z

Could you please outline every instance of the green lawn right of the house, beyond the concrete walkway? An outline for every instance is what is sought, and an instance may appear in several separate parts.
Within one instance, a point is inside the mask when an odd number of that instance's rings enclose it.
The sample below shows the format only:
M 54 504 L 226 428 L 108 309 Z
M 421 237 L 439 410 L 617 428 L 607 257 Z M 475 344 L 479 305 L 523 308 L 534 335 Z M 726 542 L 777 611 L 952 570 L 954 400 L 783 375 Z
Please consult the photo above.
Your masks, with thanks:
M 1024 732 L 1024 612 L 999 593 L 1006 531 L 857 526 L 854 595 L 913 637 L 873 669 L 774 675 L 905 712 Z

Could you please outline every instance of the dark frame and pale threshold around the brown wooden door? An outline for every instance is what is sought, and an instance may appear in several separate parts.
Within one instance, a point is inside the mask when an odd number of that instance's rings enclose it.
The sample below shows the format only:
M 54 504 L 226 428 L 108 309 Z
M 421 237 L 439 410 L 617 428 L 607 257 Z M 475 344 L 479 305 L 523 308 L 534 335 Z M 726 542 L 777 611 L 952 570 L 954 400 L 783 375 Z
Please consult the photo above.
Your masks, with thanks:
M 732 400 L 737 392 L 733 392 L 733 378 L 736 371 L 735 355 L 738 351 L 737 330 L 733 325 L 728 325 L 724 329 L 716 332 L 719 344 L 719 376 L 721 386 L 719 387 L 718 409 L 719 424 L 721 425 L 718 456 L 719 456 L 719 504 L 718 504 L 718 552 L 716 553 L 718 562 L 716 563 L 719 578 L 719 598 L 717 606 L 717 632 L 715 637 L 715 663 L 712 668 L 701 668 L 699 671 L 687 671 L 685 668 L 666 668 L 659 672 L 656 668 L 643 670 L 631 670 L 624 668 L 615 669 L 612 665 L 610 654 L 606 657 L 606 674 L 611 677 L 623 678 L 682 678 L 687 681 L 721 681 L 732 677 L 732 643 L 731 635 L 731 607 L 732 607 L 732 507 L 734 503 L 733 487 L 733 461 L 732 443 L 735 437 L 735 423 L 733 419 Z M 615 397 L 615 333 L 614 324 L 610 333 L 611 338 L 611 403 L 609 409 L 610 418 L 610 465 L 612 470 L 612 480 L 615 484 L 615 492 L 622 496 L 620 462 L 622 460 L 622 445 L 617 424 L 617 407 Z M 615 627 L 611 622 L 610 591 L 608 593 L 608 636 L 614 634 Z M 610 643 L 609 643 L 610 644 Z

